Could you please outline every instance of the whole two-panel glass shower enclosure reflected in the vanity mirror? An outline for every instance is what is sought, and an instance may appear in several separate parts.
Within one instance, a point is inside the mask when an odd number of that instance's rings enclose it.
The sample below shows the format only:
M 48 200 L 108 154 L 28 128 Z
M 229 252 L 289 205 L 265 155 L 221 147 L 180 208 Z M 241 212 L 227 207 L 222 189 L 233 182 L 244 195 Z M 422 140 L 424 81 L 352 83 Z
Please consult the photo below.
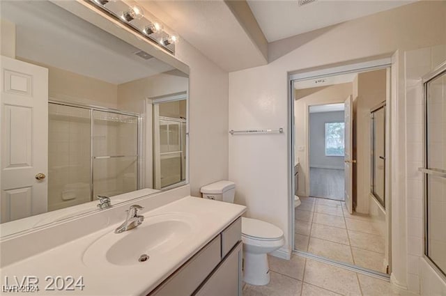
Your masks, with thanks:
M 136 114 L 49 102 L 48 210 L 138 189 Z

